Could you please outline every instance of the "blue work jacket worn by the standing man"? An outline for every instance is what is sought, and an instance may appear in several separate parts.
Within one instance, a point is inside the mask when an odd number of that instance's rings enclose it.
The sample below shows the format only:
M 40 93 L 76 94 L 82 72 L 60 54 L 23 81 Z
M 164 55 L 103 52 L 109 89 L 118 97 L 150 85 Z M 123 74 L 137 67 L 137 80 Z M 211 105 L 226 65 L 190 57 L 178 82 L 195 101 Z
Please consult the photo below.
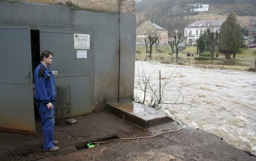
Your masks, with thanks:
M 56 95 L 56 83 L 52 72 L 40 63 L 35 69 L 35 100 L 47 104 L 54 102 Z

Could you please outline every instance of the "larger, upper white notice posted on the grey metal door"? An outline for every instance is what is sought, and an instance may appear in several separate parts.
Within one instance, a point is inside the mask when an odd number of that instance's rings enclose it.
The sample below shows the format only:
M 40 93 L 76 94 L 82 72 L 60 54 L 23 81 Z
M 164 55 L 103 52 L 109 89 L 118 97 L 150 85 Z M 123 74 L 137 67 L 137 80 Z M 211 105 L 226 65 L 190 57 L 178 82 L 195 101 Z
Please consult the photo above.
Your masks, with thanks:
M 90 49 L 90 35 L 89 34 L 74 34 L 74 48 L 75 49 Z

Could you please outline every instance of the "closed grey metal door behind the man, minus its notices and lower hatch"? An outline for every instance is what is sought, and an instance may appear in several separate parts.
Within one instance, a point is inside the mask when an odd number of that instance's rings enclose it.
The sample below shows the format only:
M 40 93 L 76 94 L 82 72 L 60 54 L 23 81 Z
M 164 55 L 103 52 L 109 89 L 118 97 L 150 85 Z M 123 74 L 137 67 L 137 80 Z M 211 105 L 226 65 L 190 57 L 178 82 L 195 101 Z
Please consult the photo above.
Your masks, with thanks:
M 77 59 L 74 34 L 90 34 L 74 31 L 40 30 L 41 51 L 53 53 L 52 71 L 57 71 L 56 85 L 70 86 L 71 115 L 92 113 L 90 91 L 90 49 L 87 59 Z M 58 94 L 57 94 L 58 99 Z M 57 104 L 56 104 L 57 106 Z M 58 107 L 56 107 L 58 108 Z

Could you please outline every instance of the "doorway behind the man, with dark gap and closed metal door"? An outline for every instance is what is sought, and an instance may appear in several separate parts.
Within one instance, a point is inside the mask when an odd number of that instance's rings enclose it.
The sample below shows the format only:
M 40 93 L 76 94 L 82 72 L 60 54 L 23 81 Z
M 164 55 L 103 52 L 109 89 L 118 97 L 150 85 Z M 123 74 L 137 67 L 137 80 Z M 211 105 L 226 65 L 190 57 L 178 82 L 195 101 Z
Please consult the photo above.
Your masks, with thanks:
M 74 37 L 76 35 L 88 36 L 91 34 L 90 32 L 77 32 L 72 29 L 31 29 L 32 72 L 34 73 L 35 68 L 40 64 L 41 51 L 47 49 L 54 54 L 53 64 L 50 69 L 57 85 L 57 98 L 54 103 L 56 106 L 56 119 L 92 113 L 90 89 L 91 50 L 90 47 L 88 49 L 76 49 L 74 46 Z M 78 52 L 86 52 L 86 55 L 81 58 L 79 57 L 80 55 L 77 55 Z M 33 98 L 35 98 L 35 90 L 33 91 Z M 34 115 L 36 121 L 40 120 L 35 101 Z

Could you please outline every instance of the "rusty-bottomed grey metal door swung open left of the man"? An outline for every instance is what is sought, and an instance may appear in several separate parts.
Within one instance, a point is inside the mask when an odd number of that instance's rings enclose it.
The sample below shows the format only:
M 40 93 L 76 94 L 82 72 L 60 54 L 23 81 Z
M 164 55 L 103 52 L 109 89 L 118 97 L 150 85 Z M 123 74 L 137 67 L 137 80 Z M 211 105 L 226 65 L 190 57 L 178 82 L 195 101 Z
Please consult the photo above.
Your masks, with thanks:
M 0 128 L 35 134 L 28 26 L 0 27 Z

